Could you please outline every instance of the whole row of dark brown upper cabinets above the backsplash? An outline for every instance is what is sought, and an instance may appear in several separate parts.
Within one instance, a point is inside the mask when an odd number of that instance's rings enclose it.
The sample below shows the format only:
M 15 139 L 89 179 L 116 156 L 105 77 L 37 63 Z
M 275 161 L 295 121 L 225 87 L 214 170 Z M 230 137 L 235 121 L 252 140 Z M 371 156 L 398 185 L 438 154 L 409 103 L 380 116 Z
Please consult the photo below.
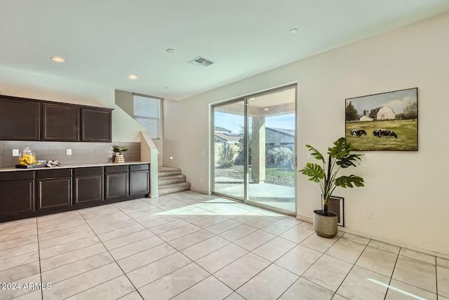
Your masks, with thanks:
M 0 95 L 0 141 L 112 141 L 112 108 Z

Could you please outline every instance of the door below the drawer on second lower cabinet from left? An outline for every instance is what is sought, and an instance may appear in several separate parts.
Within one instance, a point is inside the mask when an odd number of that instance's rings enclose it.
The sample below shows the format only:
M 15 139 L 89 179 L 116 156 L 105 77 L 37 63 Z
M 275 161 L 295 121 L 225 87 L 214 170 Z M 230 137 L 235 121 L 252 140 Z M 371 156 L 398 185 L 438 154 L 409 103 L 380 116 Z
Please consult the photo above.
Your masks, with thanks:
M 72 178 L 37 180 L 37 209 L 69 207 L 72 204 Z

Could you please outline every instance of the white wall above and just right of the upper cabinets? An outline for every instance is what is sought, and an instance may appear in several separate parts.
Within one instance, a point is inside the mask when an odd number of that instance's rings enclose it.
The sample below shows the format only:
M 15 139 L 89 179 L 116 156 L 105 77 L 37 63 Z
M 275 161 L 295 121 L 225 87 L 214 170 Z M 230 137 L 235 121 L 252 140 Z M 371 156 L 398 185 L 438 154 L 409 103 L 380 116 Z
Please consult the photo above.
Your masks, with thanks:
M 115 105 L 115 92 L 109 86 L 0 67 L 0 94 L 114 108 L 112 141 L 140 142 L 142 126 Z

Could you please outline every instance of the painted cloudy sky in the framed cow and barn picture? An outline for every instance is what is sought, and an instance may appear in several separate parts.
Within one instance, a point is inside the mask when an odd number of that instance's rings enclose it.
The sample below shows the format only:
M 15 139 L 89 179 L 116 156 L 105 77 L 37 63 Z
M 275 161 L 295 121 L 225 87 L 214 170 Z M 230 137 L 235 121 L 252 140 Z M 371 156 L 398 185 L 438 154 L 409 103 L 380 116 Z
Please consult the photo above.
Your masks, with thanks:
M 381 106 L 389 106 L 394 110 L 395 114 L 401 114 L 408 103 L 416 101 L 417 89 L 406 89 L 391 93 L 380 93 L 373 96 L 346 99 L 346 103 L 351 102 L 356 107 L 358 115 L 363 115 L 363 110 L 370 112 L 373 108 Z

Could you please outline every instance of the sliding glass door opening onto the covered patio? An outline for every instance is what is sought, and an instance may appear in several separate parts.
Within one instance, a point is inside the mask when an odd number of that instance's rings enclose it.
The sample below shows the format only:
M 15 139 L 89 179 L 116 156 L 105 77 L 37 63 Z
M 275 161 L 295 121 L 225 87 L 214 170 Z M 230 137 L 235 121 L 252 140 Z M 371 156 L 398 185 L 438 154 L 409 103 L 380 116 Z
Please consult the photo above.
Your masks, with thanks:
M 295 214 L 296 86 L 213 106 L 213 193 Z

